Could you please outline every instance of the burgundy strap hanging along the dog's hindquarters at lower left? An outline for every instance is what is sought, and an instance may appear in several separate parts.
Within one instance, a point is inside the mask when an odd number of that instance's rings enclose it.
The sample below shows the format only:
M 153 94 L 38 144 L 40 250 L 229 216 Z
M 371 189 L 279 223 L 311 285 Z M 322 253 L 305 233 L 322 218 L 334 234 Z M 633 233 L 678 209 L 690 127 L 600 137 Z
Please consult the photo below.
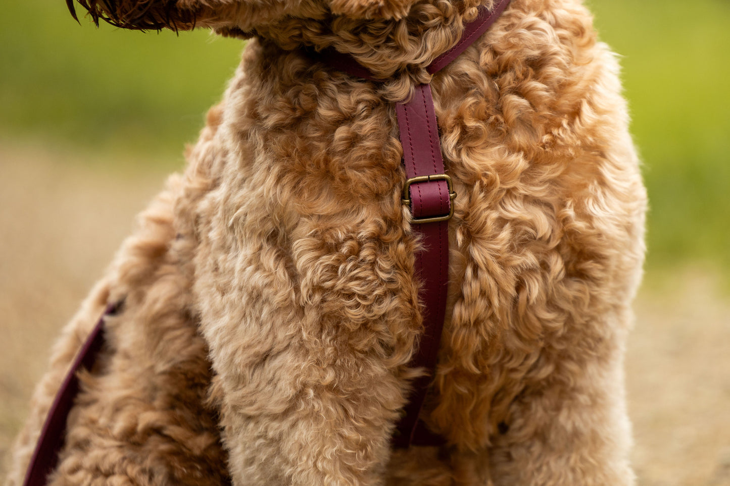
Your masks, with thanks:
M 64 445 L 64 432 L 66 431 L 66 418 L 69 416 L 74 398 L 79 390 L 78 372 L 83 369 L 91 369 L 99 355 L 101 345 L 104 344 L 104 317 L 115 315 L 120 309 L 120 303 L 110 304 L 104 311 L 104 315 L 94 326 L 86 341 L 79 350 L 69 371 L 66 373 L 64 382 L 55 396 L 53 404 L 48 411 L 46 421 L 43 424 L 41 434 L 33 452 L 31 462 L 28 463 L 26 478 L 23 486 L 45 486 L 48 474 L 53 471 L 58 462 L 58 452 Z

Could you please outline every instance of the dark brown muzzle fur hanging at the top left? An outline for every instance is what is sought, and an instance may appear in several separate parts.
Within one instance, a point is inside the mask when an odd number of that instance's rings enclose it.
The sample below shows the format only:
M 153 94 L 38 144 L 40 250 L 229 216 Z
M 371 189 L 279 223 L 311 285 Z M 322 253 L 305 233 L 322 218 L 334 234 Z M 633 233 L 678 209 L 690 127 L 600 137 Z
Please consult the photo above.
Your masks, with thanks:
M 99 19 L 112 26 L 139 31 L 162 28 L 189 30 L 195 26 L 197 12 L 180 7 L 177 0 L 77 0 L 88 10 L 96 25 Z M 71 15 L 78 20 L 74 0 L 66 0 Z

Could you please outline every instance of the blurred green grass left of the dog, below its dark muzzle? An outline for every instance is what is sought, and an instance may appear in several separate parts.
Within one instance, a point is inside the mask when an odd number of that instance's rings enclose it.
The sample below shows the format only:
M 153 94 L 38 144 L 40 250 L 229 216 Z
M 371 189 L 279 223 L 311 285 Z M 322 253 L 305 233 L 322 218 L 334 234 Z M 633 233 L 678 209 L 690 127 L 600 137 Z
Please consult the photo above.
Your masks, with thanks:
M 150 161 L 179 158 L 220 99 L 242 42 L 208 31 L 176 36 L 97 30 L 88 18 L 81 24 L 63 0 L 4 4 L 0 129 Z

